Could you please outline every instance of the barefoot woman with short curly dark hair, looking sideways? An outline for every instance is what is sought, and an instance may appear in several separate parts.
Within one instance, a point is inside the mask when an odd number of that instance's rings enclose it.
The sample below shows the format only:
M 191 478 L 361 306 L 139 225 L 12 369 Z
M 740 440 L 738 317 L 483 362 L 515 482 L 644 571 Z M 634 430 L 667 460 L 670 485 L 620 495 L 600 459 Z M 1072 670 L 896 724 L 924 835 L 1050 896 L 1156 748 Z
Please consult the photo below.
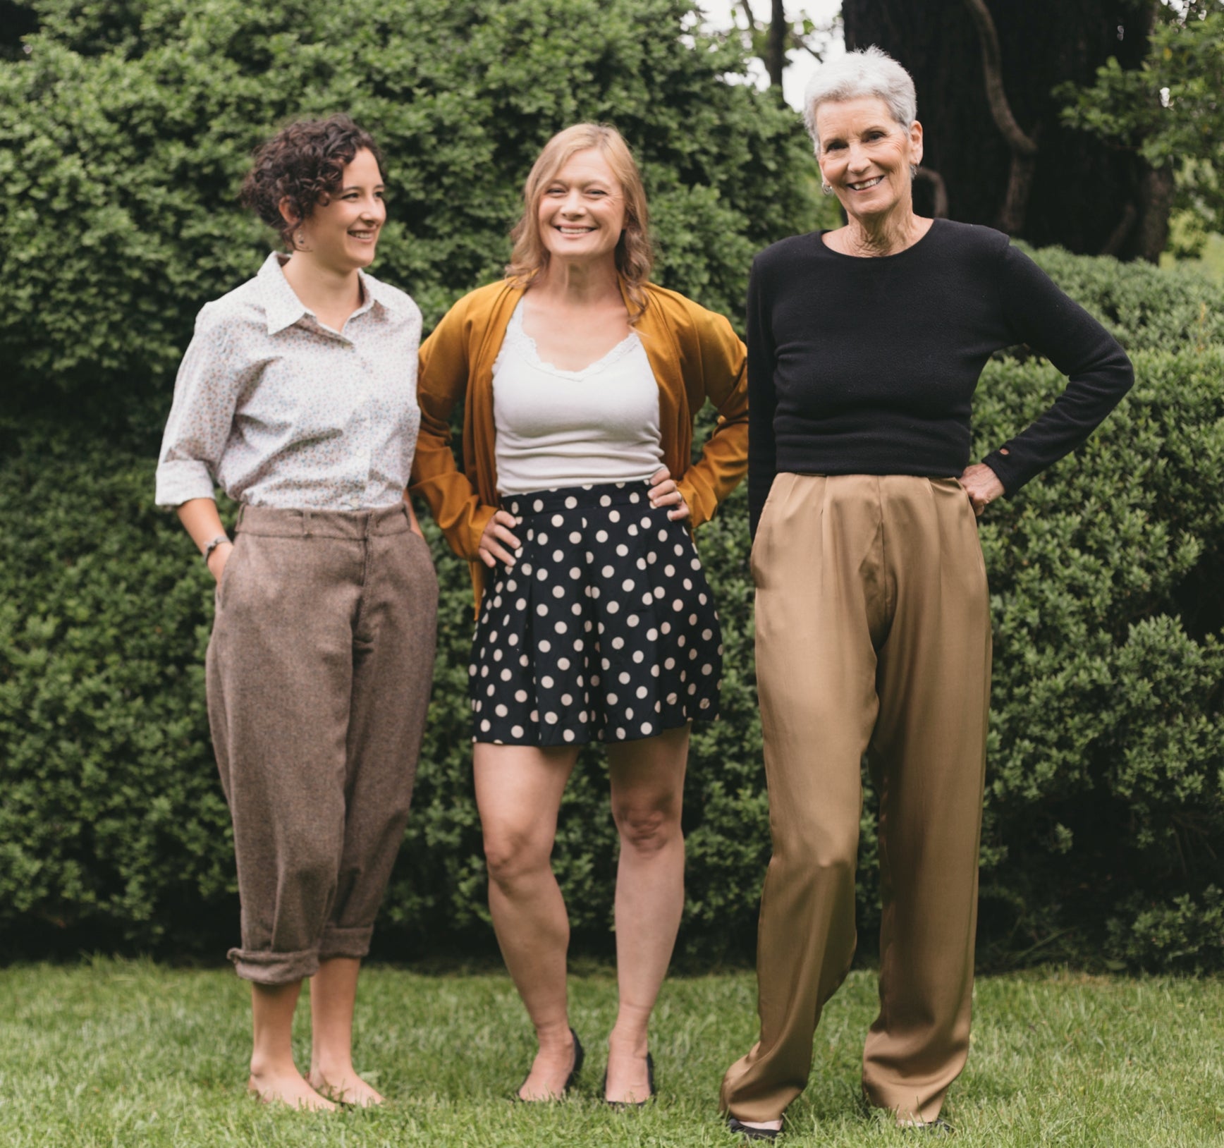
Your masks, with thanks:
M 291 124 L 244 201 L 291 253 L 207 304 L 157 471 L 217 579 L 208 717 L 234 821 L 248 1087 L 308 1109 L 382 1098 L 353 1067 L 357 969 L 408 819 L 437 581 L 404 499 L 421 316 L 365 273 L 387 218 L 370 136 Z M 240 503 L 231 543 L 213 488 Z M 311 978 L 311 1068 L 290 1029 Z M 330 1098 L 330 1099 L 329 1099 Z

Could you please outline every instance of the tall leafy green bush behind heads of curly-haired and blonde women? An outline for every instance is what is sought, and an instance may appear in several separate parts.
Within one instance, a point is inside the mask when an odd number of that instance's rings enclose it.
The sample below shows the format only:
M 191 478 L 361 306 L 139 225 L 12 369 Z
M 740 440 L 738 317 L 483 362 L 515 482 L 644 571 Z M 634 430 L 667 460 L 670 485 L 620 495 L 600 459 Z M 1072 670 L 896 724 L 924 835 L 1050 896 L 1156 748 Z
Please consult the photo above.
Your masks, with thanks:
M 0 359 L 28 393 L 164 394 L 200 306 L 267 253 L 237 188 L 296 116 L 349 111 L 379 141 L 378 274 L 427 326 L 497 278 L 531 162 L 583 119 L 636 149 L 659 281 L 710 307 L 738 311 L 752 252 L 809 202 L 794 116 L 723 81 L 733 43 L 685 47 L 683 0 L 32 6 L 28 59 L 0 61 Z

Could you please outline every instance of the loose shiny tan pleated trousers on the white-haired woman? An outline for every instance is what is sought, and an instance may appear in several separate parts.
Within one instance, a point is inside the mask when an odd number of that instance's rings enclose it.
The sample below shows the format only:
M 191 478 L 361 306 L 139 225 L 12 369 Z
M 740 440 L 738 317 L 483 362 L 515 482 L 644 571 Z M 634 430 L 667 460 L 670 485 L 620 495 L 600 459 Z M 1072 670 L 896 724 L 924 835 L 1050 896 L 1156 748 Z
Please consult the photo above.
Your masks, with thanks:
M 953 479 L 780 474 L 753 547 L 774 857 L 758 936 L 760 1039 L 723 1108 L 775 1120 L 854 953 L 868 755 L 880 799 L 880 1012 L 869 1103 L 934 1120 L 965 1066 L 973 990 L 990 619 Z

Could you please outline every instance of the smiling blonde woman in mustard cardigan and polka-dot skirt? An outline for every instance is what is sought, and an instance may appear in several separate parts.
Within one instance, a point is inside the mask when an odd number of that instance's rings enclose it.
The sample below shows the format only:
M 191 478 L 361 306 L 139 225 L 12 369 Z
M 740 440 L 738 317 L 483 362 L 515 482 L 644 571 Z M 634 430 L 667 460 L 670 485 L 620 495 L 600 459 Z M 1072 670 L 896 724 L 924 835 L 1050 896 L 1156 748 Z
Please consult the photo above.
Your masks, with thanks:
M 603 742 L 621 838 L 605 1099 L 641 1104 L 684 904 L 689 726 L 718 707 L 718 619 L 690 530 L 747 468 L 745 352 L 725 318 L 649 281 L 646 198 L 614 130 L 580 124 L 545 146 L 513 236 L 507 278 L 421 348 L 411 491 L 472 564 L 490 909 L 539 1039 L 517 1095 L 562 1095 L 583 1061 L 550 855 L 578 749 Z M 692 464 L 706 399 L 718 425 Z M 463 471 L 448 431 L 460 400 Z

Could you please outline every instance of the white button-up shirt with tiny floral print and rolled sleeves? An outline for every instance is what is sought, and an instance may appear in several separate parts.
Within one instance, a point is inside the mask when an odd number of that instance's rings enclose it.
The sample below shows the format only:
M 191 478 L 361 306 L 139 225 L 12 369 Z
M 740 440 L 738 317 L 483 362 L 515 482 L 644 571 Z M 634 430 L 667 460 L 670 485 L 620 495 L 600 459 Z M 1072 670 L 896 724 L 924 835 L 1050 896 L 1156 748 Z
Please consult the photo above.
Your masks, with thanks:
M 212 498 L 257 507 L 370 510 L 404 497 L 421 411 L 421 312 L 361 273 L 343 330 L 321 323 L 269 255 L 207 304 L 179 367 L 157 468 L 158 505 Z

